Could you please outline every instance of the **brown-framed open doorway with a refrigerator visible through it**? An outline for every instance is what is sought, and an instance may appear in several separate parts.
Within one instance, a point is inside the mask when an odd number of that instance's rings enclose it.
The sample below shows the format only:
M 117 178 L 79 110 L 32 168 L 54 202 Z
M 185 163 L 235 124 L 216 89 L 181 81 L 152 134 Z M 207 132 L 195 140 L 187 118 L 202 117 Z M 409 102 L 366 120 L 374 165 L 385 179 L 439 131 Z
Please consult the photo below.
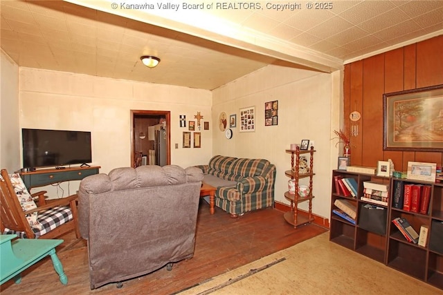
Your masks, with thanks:
M 131 166 L 134 154 L 143 154 L 142 164 L 171 164 L 170 111 L 131 110 Z

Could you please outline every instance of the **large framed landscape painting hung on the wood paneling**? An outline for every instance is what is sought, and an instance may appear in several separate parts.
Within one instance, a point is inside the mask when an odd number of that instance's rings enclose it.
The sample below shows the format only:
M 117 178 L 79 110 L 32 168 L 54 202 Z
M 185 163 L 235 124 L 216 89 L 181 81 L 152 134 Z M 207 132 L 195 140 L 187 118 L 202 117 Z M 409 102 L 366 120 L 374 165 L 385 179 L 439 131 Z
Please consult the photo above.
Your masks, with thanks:
M 443 151 L 443 85 L 383 94 L 383 149 Z

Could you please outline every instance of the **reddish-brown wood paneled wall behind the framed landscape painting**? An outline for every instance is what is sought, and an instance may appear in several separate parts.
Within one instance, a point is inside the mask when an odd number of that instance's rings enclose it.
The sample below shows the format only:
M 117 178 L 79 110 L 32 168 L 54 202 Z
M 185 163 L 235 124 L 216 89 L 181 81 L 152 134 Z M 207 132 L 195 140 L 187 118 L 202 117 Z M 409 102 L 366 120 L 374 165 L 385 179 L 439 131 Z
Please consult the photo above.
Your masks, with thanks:
M 344 122 L 351 136 L 351 164 L 377 166 L 392 159 L 395 170 L 406 171 L 408 161 L 443 164 L 443 153 L 422 151 L 383 151 L 383 93 L 392 93 L 443 84 L 443 36 L 391 50 L 345 65 Z M 349 115 L 359 111 L 361 119 Z

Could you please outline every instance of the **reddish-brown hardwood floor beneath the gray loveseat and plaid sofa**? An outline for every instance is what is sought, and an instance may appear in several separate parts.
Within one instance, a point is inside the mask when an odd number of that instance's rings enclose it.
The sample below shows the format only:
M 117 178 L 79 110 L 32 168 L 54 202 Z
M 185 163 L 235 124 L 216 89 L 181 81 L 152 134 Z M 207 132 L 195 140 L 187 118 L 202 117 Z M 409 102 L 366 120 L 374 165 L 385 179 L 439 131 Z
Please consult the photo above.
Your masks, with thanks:
M 45 258 L 22 273 L 20 284 L 10 280 L 1 285 L 0 292 L 2 295 L 60 292 L 174 294 L 325 231 L 327 229 L 317 225 L 294 229 L 284 221 L 282 211 L 276 209 L 254 211 L 233 219 L 216 208 L 215 214 L 210 215 L 209 205 L 201 200 L 194 257 L 175 264 L 171 272 L 162 268 L 125 281 L 122 289 L 116 289 L 116 284 L 112 283 L 91 290 L 86 241 L 76 240 L 75 235 L 70 233 L 62 237 L 64 243 L 57 247 L 57 254 L 69 279 L 68 285 L 60 283 L 51 259 Z

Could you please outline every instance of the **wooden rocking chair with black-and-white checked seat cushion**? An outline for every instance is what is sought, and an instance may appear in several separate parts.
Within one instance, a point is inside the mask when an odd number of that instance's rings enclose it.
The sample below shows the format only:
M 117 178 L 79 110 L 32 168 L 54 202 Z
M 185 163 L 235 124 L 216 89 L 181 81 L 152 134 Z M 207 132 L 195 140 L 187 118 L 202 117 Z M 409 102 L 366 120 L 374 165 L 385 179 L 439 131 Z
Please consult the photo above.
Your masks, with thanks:
M 80 238 L 77 225 L 77 195 L 46 201 L 44 198 L 46 191 L 33 193 L 31 194 L 33 198 L 38 197 L 38 207 L 25 212 L 21 208 L 6 169 L 1 169 L 1 177 L 3 180 L 0 179 L 0 234 L 7 229 L 14 234 L 24 233 L 22 237 L 26 238 L 57 238 L 74 230 L 75 236 Z M 42 225 L 40 231 L 31 227 L 26 219 L 28 214 L 34 212 L 37 212 L 37 220 Z

